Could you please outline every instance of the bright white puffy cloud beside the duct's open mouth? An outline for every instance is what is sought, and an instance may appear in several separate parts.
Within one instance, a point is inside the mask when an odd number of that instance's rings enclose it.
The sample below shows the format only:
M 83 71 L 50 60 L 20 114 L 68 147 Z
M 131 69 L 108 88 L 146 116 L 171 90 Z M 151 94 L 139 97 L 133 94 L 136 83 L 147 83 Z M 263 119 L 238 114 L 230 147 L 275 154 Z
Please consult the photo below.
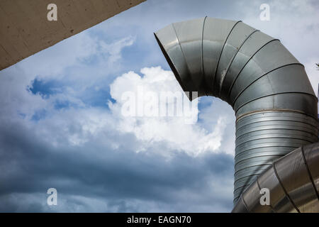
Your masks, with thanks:
M 142 76 L 135 72 L 128 72 L 116 78 L 111 84 L 111 96 L 116 103 L 110 104 L 113 115 L 118 118 L 118 130 L 122 133 L 134 133 L 136 138 L 143 141 L 138 151 L 151 148 L 153 143 L 164 142 L 171 150 L 163 150 L 163 155 L 169 155 L 168 152 L 172 150 L 184 151 L 194 156 L 206 152 L 221 152 L 220 145 L 225 128 L 230 123 L 229 116 L 217 116 L 216 122 L 212 123 L 208 130 L 198 123 L 187 123 L 185 116 L 123 116 L 121 109 L 126 100 L 123 100 L 122 96 L 125 92 L 131 91 L 136 94 L 136 105 L 142 102 L 143 98 L 138 98 L 139 88 L 142 89 L 143 94 L 155 92 L 157 96 L 160 96 L 160 92 L 176 91 L 184 95 L 171 71 L 162 70 L 161 67 L 145 67 L 140 72 Z M 184 96 L 185 104 L 189 104 L 186 96 Z M 177 105 L 177 108 L 181 106 Z M 218 106 L 216 110 L 217 108 Z M 194 109 L 193 114 L 198 111 L 197 107 Z M 183 110 L 180 111 L 183 112 Z

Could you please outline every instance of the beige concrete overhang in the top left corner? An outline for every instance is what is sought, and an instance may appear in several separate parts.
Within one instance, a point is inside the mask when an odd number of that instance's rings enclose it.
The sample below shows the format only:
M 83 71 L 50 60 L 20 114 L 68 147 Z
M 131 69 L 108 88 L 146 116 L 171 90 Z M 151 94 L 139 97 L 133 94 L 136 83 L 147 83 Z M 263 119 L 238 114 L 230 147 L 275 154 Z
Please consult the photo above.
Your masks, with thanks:
M 0 70 L 145 0 L 1 0 Z M 48 4 L 57 21 L 48 21 Z

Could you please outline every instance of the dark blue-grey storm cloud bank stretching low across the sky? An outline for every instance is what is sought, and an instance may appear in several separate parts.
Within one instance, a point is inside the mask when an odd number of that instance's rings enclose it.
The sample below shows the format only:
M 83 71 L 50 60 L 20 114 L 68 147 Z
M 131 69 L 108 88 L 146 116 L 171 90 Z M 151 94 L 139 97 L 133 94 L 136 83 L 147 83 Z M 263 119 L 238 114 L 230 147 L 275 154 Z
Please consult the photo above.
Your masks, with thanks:
M 0 138 L 0 211 L 47 211 L 45 193 L 50 187 L 57 189 L 59 198 L 65 198 L 64 204 L 55 207 L 56 211 L 74 211 L 73 206 L 83 203 L 72 196 L 95 198 L 111 207 L 123 205 L 116 210 L 106 206 L 99 211 L 157 211 L 147 205 L 125 209 L 125 201 L 130 199 L 159 203 L 171 211 L 217 211 L 216 206 L 228 211 L 232 206 L 226 195 L 214 194 L 216 188 L 209 185 L 215 178 L 220 181 L 220 190 L 229 187 L 223 179 L 232 179 L 231 155 L 193 158 L 177 153 L 166 160 L 161 155 L 135 153 L 125 145 L 114 150 L 94 140 L 80 148 L 57 149 L 13 122 L 1 125 Z M 130 135 L 118 138 L 111 133 L 106 140 L 138 143 Z M 169 148 L 158 144 L 152 149 Z M 199 195 L 202 199 L 191 199 Z M 30 198 L 34 199 L 32 203 Z M 80 211 L 90 210 L 84 206 Z

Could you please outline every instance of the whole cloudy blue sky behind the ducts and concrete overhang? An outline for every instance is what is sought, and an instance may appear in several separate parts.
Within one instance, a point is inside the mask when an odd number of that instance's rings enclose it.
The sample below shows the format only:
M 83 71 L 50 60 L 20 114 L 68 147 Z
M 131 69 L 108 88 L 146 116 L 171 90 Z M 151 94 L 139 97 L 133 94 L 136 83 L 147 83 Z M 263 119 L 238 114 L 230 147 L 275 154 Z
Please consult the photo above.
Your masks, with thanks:
M 269 21 L 259 18 L 261 4 Z M 153 33 L 203 16 L 279 38 L 317 94 L 318 12 L 315 0 L 147 0 L 1 70 L 0 211 L 231 211 L 231 106 L 200 97 L 198 120 L 186 123 L 124 116 L 123 94 L 181 92 Z M 56 206 L 47 204 L 49 188 Z

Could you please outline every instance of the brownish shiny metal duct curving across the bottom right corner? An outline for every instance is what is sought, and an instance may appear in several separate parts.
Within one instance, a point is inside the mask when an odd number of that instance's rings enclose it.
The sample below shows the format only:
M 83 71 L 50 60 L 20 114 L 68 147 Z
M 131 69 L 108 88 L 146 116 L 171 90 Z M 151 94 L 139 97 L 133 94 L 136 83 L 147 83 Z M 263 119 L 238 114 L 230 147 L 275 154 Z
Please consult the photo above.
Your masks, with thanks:
M 319 143 L 276 160 L 240 196 L 233 212 L 319 212 Z M 260 191 L 269 189 L 269 205 Z

